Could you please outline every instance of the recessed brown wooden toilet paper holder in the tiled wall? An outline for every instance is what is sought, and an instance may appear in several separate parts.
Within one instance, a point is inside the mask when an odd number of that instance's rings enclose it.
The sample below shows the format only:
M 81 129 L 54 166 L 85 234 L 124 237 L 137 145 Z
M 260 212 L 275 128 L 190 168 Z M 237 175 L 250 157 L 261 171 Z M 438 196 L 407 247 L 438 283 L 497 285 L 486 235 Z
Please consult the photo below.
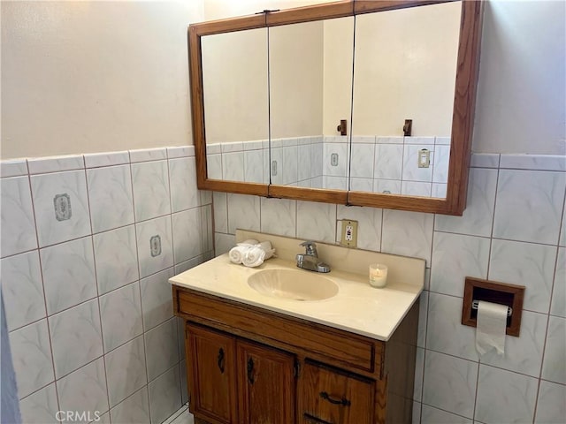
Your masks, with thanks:
M 463 289 L 462 324 L 476 327 L 478 303 L 485 300 L 507 307 L 505 334 L 519 336 L 523 313 L 524 286 L 466 276 Z

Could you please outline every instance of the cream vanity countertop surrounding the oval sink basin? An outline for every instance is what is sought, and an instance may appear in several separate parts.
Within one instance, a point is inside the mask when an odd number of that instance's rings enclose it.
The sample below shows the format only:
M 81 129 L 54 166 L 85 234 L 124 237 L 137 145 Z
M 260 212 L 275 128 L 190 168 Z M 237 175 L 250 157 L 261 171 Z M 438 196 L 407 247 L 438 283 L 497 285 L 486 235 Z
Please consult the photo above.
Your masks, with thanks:
M 407 258 L 408 261 L 416 261 Z M 332 265 L 332 263 L 331 263 Z M 333 280 L 339 292 L 329 299 L 297 301 L 261 294 L 248 284 L 248 277 L 262 269 L 297 269 L 294 261 L 272 258 L 256 268 L 230 262 L 228 254 L 173 276 L 171 284 L 232 299 L 247 305 L 344 329 L 362 336 L 387 341 L 423 290 L 421 281 L 395 281 L 389 278 L 386 288 L 376 289 L 362 274 L 333 269 L 320 274 Z M 305 273 L 311 271 L 301 270 Z M 424 261 L 422 264 L 424 276 Z

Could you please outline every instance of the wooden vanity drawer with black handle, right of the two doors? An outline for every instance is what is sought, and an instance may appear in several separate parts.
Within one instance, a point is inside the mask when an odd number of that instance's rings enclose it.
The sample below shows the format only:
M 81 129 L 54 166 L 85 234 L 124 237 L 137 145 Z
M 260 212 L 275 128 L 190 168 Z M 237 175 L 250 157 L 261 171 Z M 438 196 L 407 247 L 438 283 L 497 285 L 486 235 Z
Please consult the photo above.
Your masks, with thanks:
M 370 379 L 307 360 L 299 385 L 303 422 L 373 422 L 375 385 Z

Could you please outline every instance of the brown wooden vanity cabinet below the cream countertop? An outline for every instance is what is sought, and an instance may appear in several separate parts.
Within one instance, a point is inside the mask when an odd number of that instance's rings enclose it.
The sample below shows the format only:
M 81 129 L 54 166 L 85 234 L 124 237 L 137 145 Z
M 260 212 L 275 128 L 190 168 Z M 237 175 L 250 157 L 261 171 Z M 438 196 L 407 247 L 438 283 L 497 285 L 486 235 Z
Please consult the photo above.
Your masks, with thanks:
M 173 285 L 197 424 L 412 420 L 418 301 L 387 342 Z

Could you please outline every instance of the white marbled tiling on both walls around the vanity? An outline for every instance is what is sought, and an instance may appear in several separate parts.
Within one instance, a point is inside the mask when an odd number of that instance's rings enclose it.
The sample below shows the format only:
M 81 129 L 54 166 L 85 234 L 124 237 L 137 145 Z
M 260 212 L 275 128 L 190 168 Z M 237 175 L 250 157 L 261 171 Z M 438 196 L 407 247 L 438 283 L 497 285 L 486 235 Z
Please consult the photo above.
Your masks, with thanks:
M 299 147 L 310 146 L 311 163 L 316 161 L 310 178 L 317 184 L 323 175 L 323 142 L 316 137 L 310 141 L 297 140 L 297 155 Z M 388 141 L 403 146 L 402 139 Z M 54 412 L 62 405 L 110 408 L 104 416 L 111 422 L 161 422 L 165 412 L 174 412 L 185 399 L 180 389 L 186 366 L 180 360 L 182 331 L 171 319 L 168 276 L 210 257 L 212 237 L 216 254 L 226 252 L 236 227 L 333 242 L 342 218 L 359 222 L 363 248 L 421 257 L 431 267 L 420 302 L 414 422 L 556 422 L 563 417 L 566 180 L 564 170 L 556 169 L 555 156 L 472 155 L 468 207 L 455 217 L 236 194 L 228 199 L 223 193 L 214 194 L 212 210 L 210 193 L 196 190 L 194 162 L 187 156 L 191 151 L 172 149 L 168 158 L 169 151 L 162 150 L 134 152 L 135 165 L 117 152 L 85 155 L 88 169 L 68 158 L 34 161 L 34 170 L 49 173 L 30 175 L 26 161 L 3 168 L 2 223 L 14 231 L 8 233 L 9 241 L 3 232 L 2 284 L 10 299 L 6 312 L 12 349 L 26 350 L 14 355 L 20 390 L 26 393 L 20 393 L 26 422 L 55 422 Z M 512 169 L 500 168 L 500 157 Z M 313 170 L 317 163 L 319 174 Z M 142 196 L 138 190 L 136 197 L 134 168 L 160 170 L 153 175 L 167 178 L 165 196 L 158 194 L 164 185 L 157 184 L 155 193 Z M 512 187 L 523 184 L 539 187 L 539 193 L 511 199 Z M 70 223 L 57 221 L 53 212 L 53 197 L 62 193 L 71 199 Z M 149 205 L 154 198 L 161 199 L 161 206 Z M 531 200 L 541 203 L 539 216 L 530 212 L 535 210 Z M 114 210 L 109 205 L 122 206 Z M 533 228 L 524 228 L 506 210 L 517 210 Z M 140 213 L 146 214 L 142 221 Z M 507 215 L 512 224 L 504 222 Z M 191 231 L 199 219 L 200 232 Z M 62 223 L 63 230 L 55 223 Z M 186 236 L 175 237 L 179 233 Z M 163 242 L 162 253 L 151 256 L 155 235 Z M 69 263 L 65 254 L 81 259 Z M 50 255 L 54 259 L 47 261 Z M 57 290 L 55 280 L 62 279 L 58 284 L 65 287 L 76 273 L 89 283 L 69 293 Z M 473 329 L 458 323 L 467 275 L 527 286 L 521 336 L 507 337 L 502 358 L 478 358 Z M 116 314 L 121 315 L 112 318 Z M 123 325 L 110 325 L 116 321 Z M 36 340 L 35 351 L 26 349 L 30 337 Z M 167 352 L 163 361 L 156 353 L 162 348 Z M 26 355 L 34 358 L 34 366 L 21 365 L 27 364 Z M 88 388 L 92 391 L 81 389 L 87 377 L 96 384 L 106 380 L 108 405 L 96 385 Z

